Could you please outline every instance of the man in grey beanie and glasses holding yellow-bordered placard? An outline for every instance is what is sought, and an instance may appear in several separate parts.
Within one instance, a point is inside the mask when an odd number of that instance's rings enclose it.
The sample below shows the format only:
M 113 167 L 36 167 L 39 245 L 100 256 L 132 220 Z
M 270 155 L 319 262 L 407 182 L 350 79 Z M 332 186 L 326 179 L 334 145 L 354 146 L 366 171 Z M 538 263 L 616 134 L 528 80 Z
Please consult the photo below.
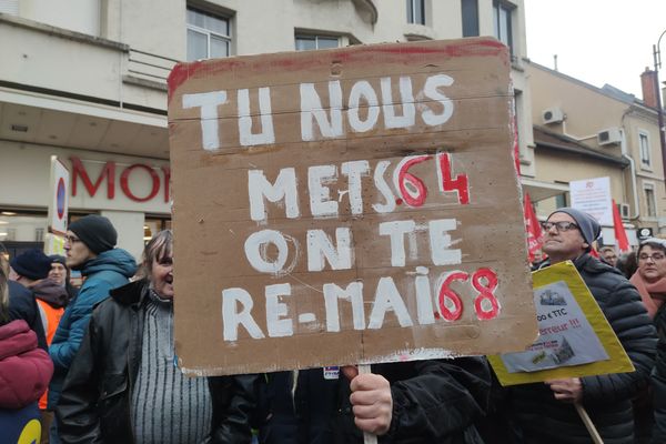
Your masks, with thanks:
M 562 208 L 543 223 L 542 268 L 573 261 L 589 287 L 636 371 L 569 377 L 511 390 L 509 402 L 521 443 L 591 443 L 574 403 L 585 406 L 605 443 L 634 443 L 632 398 L 647 385 L 654 364 L 656 335 L 636 289 L 589 252 L 601 225 L 591 215 Z

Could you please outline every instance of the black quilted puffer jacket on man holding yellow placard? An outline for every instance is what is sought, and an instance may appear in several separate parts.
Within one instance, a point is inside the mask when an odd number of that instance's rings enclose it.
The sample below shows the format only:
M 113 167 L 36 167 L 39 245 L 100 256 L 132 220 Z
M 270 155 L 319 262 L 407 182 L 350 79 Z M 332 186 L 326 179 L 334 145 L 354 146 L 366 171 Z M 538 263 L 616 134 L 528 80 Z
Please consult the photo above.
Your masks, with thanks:
M 605 444 L 634 443 L 632 398 L 644 389 L 654 364 L 656 333 L 640 295 L 616 269 L 584 254 L 574 265 L 599 304 L 636 371 L 582 377 L 583 406 Z M 573 404 L 556 401 L 545 384 L 508 391 L 517 443 L 592 443 Z

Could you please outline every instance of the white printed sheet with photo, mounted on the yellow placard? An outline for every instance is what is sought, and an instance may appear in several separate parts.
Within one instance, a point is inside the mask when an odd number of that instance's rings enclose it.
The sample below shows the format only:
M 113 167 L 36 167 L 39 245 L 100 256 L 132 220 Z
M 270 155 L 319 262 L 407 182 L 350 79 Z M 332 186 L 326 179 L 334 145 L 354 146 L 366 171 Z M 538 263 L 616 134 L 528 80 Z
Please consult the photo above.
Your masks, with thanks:
M 565 282 L 534 291 L 539 336 L 521 353 L 502 355 L 509 373 L 608 360 L 599 339 Z

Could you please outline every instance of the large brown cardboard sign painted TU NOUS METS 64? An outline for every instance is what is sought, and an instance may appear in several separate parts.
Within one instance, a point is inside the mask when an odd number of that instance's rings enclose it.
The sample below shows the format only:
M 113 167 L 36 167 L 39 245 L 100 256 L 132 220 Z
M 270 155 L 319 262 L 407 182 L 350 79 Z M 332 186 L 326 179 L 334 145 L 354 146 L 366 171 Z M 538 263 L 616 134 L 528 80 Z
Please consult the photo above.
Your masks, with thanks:
M 531 344 L 509 67 L 507 49 L 483 38 L 176 65 L 183 371 Z

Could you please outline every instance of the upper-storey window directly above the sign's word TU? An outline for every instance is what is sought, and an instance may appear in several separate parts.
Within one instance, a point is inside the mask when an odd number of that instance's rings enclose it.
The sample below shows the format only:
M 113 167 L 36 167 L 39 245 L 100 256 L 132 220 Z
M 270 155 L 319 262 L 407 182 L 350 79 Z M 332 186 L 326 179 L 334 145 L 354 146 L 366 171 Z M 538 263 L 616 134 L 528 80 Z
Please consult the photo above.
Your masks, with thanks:
M 229 18 L 188 8 L 188 61 L 229 57 L 230 53 Z

